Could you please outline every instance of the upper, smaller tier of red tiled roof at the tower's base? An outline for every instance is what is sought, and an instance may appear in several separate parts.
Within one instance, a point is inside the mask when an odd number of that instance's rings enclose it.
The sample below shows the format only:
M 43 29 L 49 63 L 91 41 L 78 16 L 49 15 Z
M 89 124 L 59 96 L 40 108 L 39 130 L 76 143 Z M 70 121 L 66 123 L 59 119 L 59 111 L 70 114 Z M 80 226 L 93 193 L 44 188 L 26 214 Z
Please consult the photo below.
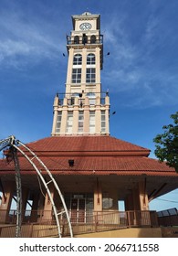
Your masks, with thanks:
M 149 155 L 150 150 L 111 136 L 56 136 L 26 144 L 36 152 L 140 152 Z

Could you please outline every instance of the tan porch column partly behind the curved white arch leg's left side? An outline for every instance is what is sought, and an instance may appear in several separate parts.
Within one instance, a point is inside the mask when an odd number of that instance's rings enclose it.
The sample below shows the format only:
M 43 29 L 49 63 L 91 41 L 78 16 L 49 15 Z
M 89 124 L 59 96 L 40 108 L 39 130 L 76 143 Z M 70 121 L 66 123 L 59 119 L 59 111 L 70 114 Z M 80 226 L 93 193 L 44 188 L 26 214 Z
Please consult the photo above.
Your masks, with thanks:
M 49 190 L 50 190 L 50 193 L 51 193 L 51 197 L 54 198 L 54 190 L 55 190 L 54 186 L 50 185 Z M 53 207 L 52 207 L 50 198 L 48 197 L 48 194 L 46 193 L 42 220 L 52 220 L 52 209 L 53 209 Z

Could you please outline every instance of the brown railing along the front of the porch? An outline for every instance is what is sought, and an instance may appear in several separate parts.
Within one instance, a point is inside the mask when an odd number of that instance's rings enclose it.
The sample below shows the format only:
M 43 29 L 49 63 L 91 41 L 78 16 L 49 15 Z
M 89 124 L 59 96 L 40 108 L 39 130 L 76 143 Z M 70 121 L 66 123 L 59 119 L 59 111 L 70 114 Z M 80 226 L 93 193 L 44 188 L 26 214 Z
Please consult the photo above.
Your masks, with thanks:
M 2 210 L 0 210 L 1 222 Z M 78 215 L 79 216 L 79 215 Z M 46 217 L 47 219 L 44 219 Z M 68 223 L 65 217 L 59 219 L 62 236 L 69 235 Z M 6 223 L 10 226 L 0 227 L 0 237 L 13 237 L 16 230 L 16 210 Z M 13 225 L 12 225 L 13 224 Z M 158 227 L 155 211 L 95 211 L 87 218 L 71 219 L 74 235 L 111 229 Z M 22 225 L 22 237 L 56 237 L 58 229 L 50 211 L 30 211 L 25 213 Z

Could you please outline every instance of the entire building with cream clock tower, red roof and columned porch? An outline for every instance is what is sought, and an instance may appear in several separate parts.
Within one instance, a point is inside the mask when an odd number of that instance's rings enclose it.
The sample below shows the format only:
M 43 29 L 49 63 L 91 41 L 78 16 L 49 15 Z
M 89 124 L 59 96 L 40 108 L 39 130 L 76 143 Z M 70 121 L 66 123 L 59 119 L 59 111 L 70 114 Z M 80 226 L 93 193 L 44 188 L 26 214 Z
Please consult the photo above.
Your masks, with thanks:
M 100 16 L 86 12 L 72 16 L 72 23 L 67 36 L 66 91 L 55 97 L 52 135 L 27 146 L 56 179 L 72 223 L 87 223 L 98 213 L 118 211 L 120 200 L 126 211 L 149 212 L 153 198 L 177 188 L 178 176 L 173 168 L 149 158 L 149 149 L 110 136 L 110 98 L 107 91 L 102 93 L 100 82 Z M 38 221 L 39 216 L 52 219 L 52 205 L 33 166 L 24 155 L 18 154 L 18 159 L 24 214 L 30 201 L 30 221 Z M 0 222 L 5 223 L 16 199 L 12 161 L 0 160 L 0 181 Z M 52 185 L 50 193 L 62 211 Z

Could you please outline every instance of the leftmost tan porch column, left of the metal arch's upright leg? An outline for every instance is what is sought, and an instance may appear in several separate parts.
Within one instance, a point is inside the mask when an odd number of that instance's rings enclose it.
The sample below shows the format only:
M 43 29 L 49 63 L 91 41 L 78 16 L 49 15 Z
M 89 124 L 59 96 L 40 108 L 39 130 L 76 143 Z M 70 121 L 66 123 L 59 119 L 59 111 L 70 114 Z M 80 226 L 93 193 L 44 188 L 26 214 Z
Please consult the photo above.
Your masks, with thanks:
M 4 195 L 0 205 L 0 222 L 5 223 L 9 221 L 9 210 L 11 207 L 12 197 L 14 196 L 15 184 L 7 181 L 3 184 Z

